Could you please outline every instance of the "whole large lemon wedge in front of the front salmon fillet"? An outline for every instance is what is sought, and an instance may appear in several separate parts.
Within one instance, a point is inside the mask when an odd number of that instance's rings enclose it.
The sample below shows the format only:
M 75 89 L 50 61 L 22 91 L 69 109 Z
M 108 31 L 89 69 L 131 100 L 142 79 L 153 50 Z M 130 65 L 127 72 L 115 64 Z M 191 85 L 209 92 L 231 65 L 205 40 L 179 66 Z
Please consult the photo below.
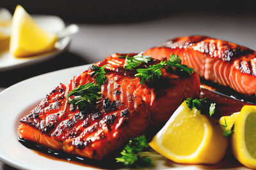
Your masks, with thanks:
M 225 155 L 228 139 L 213 118 L 190 110 L 184 102 L 149 145 L 174 162 L 216 164 Z

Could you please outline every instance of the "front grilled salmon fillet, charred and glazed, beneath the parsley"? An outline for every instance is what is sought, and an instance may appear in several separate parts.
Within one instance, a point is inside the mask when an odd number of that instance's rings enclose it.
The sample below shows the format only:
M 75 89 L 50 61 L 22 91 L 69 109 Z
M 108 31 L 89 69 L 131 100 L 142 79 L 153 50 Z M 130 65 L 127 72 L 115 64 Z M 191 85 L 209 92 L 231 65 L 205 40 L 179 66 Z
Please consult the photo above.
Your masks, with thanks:
M 135 70 L 124 69 L 125 59 L 113 54 L 95 66 L 105 66 L 106 83 L 95 110 L 83 113 L 68 103 L 68 93 L 79 85 L 94 82 L 92 68 L 52 90 L 28 115 L 20 120 L 20 138 L 35 141 L 55 150 L 92 159 L 104 156 L 124 145 L 129 138 L 147 132 L 148 127 L 166 122 L 187 97 L 200 93 L 196 73 L 177 76 L 161 69 L 164 81 L 155 86 L 141 85 Z M 136 53 L 129 54 L 130 56 Z M 151 60 L 141 68 L 159 63 Z M 164 84 L 164 85 L 163 85 Z

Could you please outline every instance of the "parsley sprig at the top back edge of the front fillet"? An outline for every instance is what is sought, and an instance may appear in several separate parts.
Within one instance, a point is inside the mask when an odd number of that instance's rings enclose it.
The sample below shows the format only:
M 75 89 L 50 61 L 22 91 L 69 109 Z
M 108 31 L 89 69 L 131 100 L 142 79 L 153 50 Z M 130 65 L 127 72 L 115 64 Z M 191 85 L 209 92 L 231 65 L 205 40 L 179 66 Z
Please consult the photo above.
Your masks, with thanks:
M 138 55 L 134 55 L 133 57 L 128 57 L 128 55 L 126 55 L 126 57 L 119 55 L 118 57 L 120 59 L 125 58 L 125 69 L 134 69 L 135 67 L 140 66 L 142 62 L 147 63 L 151 60 L 150 56 L 142 55 L 141 53 L 138 53 Z

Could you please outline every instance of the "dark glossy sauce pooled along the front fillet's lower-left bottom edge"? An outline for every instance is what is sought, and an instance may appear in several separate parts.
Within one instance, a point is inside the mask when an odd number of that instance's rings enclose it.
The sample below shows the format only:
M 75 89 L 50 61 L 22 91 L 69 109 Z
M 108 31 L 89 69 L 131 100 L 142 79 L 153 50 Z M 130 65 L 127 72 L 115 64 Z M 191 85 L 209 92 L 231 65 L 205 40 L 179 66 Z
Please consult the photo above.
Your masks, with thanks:
M 116 169 L 122 167 L 122 165 L 116 163 L 115 157 L 117 157 L 116 153 L 112 155 L 108 155 L 108 157 L 102 160 L 89 159 L 86 157 L 81 157 L 79 155 L 73 155 L 71 153 L 66 153 L 60 150 L 51 150 L 44 146 L 38 145 L 33 141 L 28 141 L 24 138 L 18 138 L 19 143 L 21 143 L 26 148 L 32 149 L 38 155 L 43 157 L 47 157 L 52 160 L 59 160 L 64 162 L 69 162 L 72 164 L 77 164 L 79 166 L 86 167 L 96 167 L 96 168 L 104 168 L 104 169 Z

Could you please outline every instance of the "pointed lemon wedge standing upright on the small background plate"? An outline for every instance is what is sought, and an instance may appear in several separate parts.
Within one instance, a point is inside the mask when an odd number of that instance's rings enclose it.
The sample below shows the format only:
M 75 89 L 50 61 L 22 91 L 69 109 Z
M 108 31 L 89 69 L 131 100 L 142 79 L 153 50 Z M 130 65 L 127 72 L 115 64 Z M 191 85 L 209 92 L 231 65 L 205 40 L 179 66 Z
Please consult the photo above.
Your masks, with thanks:
M 28 57 L 54 50 L 56 34 L 45 31 L 18 5 L 12 18 L 10 52 L 15 57 Z

